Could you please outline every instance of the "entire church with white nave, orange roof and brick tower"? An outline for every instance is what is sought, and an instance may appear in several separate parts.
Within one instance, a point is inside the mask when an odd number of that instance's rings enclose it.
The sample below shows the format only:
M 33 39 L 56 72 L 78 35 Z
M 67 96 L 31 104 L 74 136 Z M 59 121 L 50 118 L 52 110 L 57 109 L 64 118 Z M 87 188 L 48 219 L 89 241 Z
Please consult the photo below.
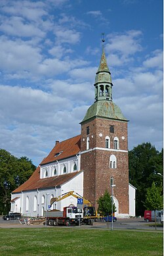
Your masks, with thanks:
M 74 191 L 91 201 L 107 189 L 113 193 L 115 217 L 135 216 L 136 188 L 129 184 L 128 120 L 113 103 L 112 77 L 104 46 L 94 82 L 94 103 L 81 124 L 81 134 L 56 141 L 31 177 L 11 193 L 10 211 L 42 217 L 47 209 L 77 205 L 70 195 L 51 205 L 52 197 Z M 112 186 L 114 185 L 114 186 Z

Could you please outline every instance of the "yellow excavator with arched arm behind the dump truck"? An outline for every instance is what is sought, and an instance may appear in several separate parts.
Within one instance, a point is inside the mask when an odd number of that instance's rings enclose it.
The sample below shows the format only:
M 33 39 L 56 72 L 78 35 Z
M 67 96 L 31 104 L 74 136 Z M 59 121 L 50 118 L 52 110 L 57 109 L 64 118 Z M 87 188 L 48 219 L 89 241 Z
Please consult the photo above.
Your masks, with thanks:
M 88 225 L 92 225 L 92 222 L 93 220 L 96 221 L 96 218 L 97 218 L 97 212 L 96 212 L 96 209 L 95 207 L 92 205 L 91 201 L 85 199 L 84 197 L 82 197 L 81 195 L 79 195 L 79 193 L 76 193 L 74 191 L 70 191 L 70 192 L 66 192 L 66 193 L 63 193 L 62 195 L 59 195 L 58 197 L 52 197 L 51 198 L 51 205 L 54 203 L 54 202 L 58 202 L 60 200 L 63 200 L 65 199 L 66 197 L 69 197 L 69 196 L 73 196 L 75 198 L 81 198 L 83 199 L 83 210 L 82 209 L 77 209 L 77 207 L 74 207 L 74 210 L 72 210 L 72 213 L 73 211 L 81 211 L 81 222 L 83 224 L 88 224 Z M 64 207 L 64 208 L 67 208 L 67 207 Z M 72 208 L 72 207 L 70 207 Z M 75 210 L 75 208 L 77 210 Z M 52 210 L 53 211 L 53 210 Z M 49 213 L 47 213 L 48 215 L 51 213 L 51 211 L 49 211 Z M 74 220 L 72 220 L 72 222 L 74 222 Z

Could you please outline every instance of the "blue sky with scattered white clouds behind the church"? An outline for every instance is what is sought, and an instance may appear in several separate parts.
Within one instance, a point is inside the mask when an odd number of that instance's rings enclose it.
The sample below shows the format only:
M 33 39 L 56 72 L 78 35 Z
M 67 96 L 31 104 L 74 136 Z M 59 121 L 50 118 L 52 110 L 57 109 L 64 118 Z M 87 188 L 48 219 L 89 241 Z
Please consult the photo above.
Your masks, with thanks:
M 162 0 L 1 0 L 0 148 L 39 165 L 81 132 L 104 50 L 129 150 L 163 147 Z

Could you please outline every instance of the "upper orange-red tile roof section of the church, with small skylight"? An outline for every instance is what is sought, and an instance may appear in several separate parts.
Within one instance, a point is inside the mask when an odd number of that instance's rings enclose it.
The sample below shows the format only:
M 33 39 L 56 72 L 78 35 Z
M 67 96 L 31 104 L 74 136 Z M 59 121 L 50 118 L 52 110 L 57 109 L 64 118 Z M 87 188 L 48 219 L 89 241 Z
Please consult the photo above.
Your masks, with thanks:
M 45 165 L 47 163 L 52 163 L 56 160 L 66 159 L 68 157 L 72 157 L 73 155 L 77 155 L 80 151 L 81 147 L 81 136 L 77 135 L 68 140 L 64 140 L 56 143 L 54 148 L 51 150 L 49 155 L 43 159 L 41 165 Z

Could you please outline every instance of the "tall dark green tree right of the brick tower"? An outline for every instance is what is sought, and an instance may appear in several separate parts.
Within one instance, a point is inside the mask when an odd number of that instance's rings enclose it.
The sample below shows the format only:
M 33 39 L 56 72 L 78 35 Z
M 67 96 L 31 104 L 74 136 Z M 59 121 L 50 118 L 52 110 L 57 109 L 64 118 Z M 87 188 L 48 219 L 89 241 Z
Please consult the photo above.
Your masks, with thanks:
M 136 215 L 144 215 L 146 191 L 155 182 L 161 186 L 163 174 L 163 149 L 159 153 L 151 143 L 142 143 L 129 151 L 129 182 L 136 190 Z

